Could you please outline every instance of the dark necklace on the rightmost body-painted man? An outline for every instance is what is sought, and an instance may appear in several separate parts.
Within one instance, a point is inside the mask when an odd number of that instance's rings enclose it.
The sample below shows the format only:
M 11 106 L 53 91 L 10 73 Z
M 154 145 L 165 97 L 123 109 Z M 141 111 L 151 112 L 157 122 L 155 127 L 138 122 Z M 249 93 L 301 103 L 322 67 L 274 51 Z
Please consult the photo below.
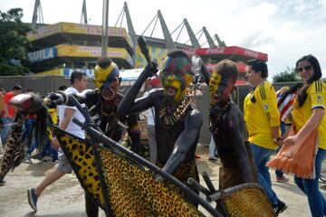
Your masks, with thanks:
M 219 127 L 222 125 L 222 118 L 225 113 L 230 109 L 230 101 L 228 101 L 223 108 L 211 106 L 209 109 L 209 130 L 213 136 L 217 136 Z

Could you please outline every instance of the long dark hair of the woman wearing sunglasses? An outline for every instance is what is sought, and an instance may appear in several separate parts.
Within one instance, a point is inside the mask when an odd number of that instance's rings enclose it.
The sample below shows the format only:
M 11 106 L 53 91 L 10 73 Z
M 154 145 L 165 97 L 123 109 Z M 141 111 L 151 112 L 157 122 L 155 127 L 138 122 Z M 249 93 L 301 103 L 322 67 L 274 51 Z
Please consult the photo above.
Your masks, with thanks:
M 320 80 L 321 79 L 321 66 L 320 66 L 319 61 L 317 60 L 317 58 L 312 56 L 312 54 L 302 56 L 302 58 L 300 58 L 298 61 L 296 61 L 295 69 L 298 67 L 298 64 L 299 64 L 300 61 L 309 61 L 309 63 L 312 64 L 313 75 L 312 75 L 312 78 L 310 78 L 309 80 L 306 81 L 306 83 L 304 84 L 302 90 L 300 90 L 300 92 L 298 94 L 299 108 L 302 107 L 303 103 L 307 99 L 308 94 L 307 94 L 306 91 L 312 85 L 312 82 L 315 81 L 315 80 Z

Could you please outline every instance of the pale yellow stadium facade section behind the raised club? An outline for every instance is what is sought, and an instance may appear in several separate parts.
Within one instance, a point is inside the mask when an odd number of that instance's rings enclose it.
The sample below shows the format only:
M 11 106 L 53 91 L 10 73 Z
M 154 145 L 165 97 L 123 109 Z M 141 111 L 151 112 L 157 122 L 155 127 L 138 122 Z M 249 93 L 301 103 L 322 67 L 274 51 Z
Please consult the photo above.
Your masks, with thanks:
M 158 61 L 158 66 L 163 61 L 163 59 L 167 56 L 168 50 L 163 48 L 149 47 L 149 56 L 152 59 L 156 59 Z M 136 66 L 135 68 L 145 68 L 147 61 L 144 55 L 141 53 L 139 46 L 136 46 Z

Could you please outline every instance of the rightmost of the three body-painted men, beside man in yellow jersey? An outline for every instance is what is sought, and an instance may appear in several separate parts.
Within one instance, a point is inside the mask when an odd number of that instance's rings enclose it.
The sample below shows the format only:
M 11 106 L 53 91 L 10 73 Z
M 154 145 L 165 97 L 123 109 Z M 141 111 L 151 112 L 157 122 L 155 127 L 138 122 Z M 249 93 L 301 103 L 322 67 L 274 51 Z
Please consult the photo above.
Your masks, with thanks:
M 204 65 L 199 57 L 193 58 L 197 71 Z M 202 69 L 201 69 L 202 68 Z M 203 70 L 210 92 L 210 130 L 221 158 L 219 189 L 237 184 L 254 183 L 254 165 L 249 144 L 246 144 L 246 129 L 241 110 L 230 99 L 235 90 L 238 69 L 234 61 L 220 61 L 212 75 Z

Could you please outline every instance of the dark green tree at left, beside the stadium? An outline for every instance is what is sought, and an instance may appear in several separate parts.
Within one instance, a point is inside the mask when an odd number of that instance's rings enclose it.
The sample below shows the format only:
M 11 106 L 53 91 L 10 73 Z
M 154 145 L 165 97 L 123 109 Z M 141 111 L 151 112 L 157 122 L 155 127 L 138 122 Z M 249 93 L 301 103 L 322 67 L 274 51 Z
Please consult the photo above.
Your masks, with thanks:
M 23 10 L 13 8 L 0 11 L 0 75 L 23 75 L 29 70 L 26 64 L 26 34 L 32 29 L 22 22 Z

